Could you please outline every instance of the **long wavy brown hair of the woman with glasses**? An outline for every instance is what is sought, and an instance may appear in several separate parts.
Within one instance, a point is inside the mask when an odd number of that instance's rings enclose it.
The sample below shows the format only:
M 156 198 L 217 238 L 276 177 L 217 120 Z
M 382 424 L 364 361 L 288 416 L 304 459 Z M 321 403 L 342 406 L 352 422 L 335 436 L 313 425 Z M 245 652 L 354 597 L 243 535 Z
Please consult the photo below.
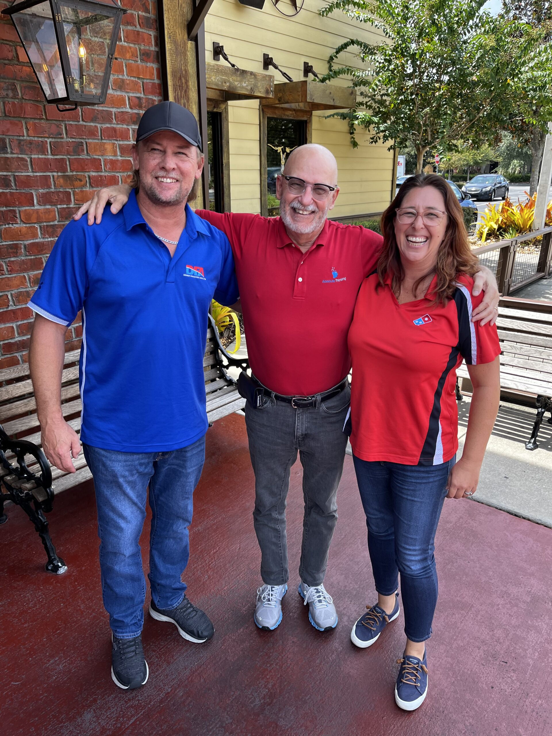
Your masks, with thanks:
M 397 196 L 381 216 L 381 233 L 383 234 L 383 250 L 378 260 L 378 277 L 383 286 L 383 279 L 387 274 L 392 276 L 392 289 L 395 294 L 400 291 L 404 280 L 403 263 L 400 260 L 400 251 L 394 235 L 394 222 L 397 213 L 409 191 L 415 188 L 432 186 L 441 192 L 447 210 L 447 229 L 445 237 L 437 252 L 437 263 L 434 271 L 437 283 L 434 292 L 434 304 L 445 304 L 452 297 L 456 289 L 456 277 L 459 274 L 473 276 L 479 269 L 478 259 L 473 255 L 467 242 L 467 232 L 462 216 L 462 208 L 456 199 L 452 188 L 442 177 L 436 174 L 416 174 L 409 177 L 400 187 Z M 429 275 L 429 272 L 420 277 L 414 284 L 414 293 Z

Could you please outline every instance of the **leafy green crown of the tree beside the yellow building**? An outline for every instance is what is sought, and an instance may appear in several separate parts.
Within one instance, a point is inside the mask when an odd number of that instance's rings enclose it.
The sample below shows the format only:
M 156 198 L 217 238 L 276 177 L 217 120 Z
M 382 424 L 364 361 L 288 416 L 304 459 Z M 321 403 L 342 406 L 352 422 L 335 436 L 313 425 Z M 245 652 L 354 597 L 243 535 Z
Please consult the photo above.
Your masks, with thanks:
M 382 43 L 347 40 L 328 60 L 324 79 L 347 77 L 357 91 L 356 107 L 337 113 L 349 121 L 353 138 L 360 125 L 374 143 L 400 149 L 411 142 L 417 171 L 428 150 L 446 152 L 459 140 L 475 147 L 498 142 L 515 109 L 515 80 L 535 40 L 530 26 L 493 17 L 483 5 L 484 0 L 333 0 L 320 11 L 341 11 L 385 37 Z M 360 68 L 339 65 L 340 54 L 353 49 Z M 541 71 L 535 59 L 534 72 Z M 527 112 L 525 105 L 521 116 Z

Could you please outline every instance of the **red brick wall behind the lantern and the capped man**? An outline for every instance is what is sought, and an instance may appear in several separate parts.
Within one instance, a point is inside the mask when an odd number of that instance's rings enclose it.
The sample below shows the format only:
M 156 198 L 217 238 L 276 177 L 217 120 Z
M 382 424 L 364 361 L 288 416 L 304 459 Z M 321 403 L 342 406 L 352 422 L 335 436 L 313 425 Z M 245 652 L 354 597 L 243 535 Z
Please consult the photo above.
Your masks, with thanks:
M 26 361 L 26 307 L 55 238 L 91 190 L 127 180 L 141 110 L 161 99 L 156 0 L 122 0 L 105 105 L 46 105 L 12 21 L 0 17 L 0 368 Z M 11 3 L 0 0 L 0 10 Z M 67 349 L 79 347 L 79 316 Z

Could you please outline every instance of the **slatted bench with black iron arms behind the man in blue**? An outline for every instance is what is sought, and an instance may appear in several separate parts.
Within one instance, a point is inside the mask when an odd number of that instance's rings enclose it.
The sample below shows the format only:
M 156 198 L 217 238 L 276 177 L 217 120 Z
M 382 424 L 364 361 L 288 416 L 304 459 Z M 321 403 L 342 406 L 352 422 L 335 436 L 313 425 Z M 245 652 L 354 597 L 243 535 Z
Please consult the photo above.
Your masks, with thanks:
M 63 417 L 77 434 L 80 434 L 82 408 L 79 355 L 80 350 L 66 353 L 61 388 Z M 238 394 L 236 381 L 228 373 L 230 366 L 246 369 L 248 363 L 228 355 L 209 316 L 203 369 L 210 425 L 245 406 L 245 400 Z M 46 570 L 57 575 L 65 573 L 67 566 L 57 556 L 44 514 L 52 510 L 55 494 L 92 477 L 84 453 L 79 454 L 74 466 L 76 473 L 51 467 L 40 449 L 40 426 L 28 364 L 0 370 L 0 524 L 7 521 L 4 503 L 11 501 L 21 506 L 35 525 L 46 549 Z

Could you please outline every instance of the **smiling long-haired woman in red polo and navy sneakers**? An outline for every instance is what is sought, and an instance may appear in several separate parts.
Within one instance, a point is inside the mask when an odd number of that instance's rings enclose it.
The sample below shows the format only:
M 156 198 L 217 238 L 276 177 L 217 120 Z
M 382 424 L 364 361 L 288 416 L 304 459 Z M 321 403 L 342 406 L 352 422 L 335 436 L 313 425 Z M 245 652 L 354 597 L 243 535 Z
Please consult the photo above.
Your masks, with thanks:
M 416 710 L 428 689 L 425 641 L 437 601 L 434 538 L 447 498 L 477 489 L 498 411 L 500 347 L 494 326 L 472 322 L 477 258 L 461 208 L 441 177 L 418 174 L 381 218 L 378 269 L 361 286 L 349 332 L 351 445 L 367 517 L 378 603 L 351 631 L 372 645 L 399 615 L 406 648 L 395 701 Z M 456 461 L 456 367 L 473 383 L 464 452 Z

